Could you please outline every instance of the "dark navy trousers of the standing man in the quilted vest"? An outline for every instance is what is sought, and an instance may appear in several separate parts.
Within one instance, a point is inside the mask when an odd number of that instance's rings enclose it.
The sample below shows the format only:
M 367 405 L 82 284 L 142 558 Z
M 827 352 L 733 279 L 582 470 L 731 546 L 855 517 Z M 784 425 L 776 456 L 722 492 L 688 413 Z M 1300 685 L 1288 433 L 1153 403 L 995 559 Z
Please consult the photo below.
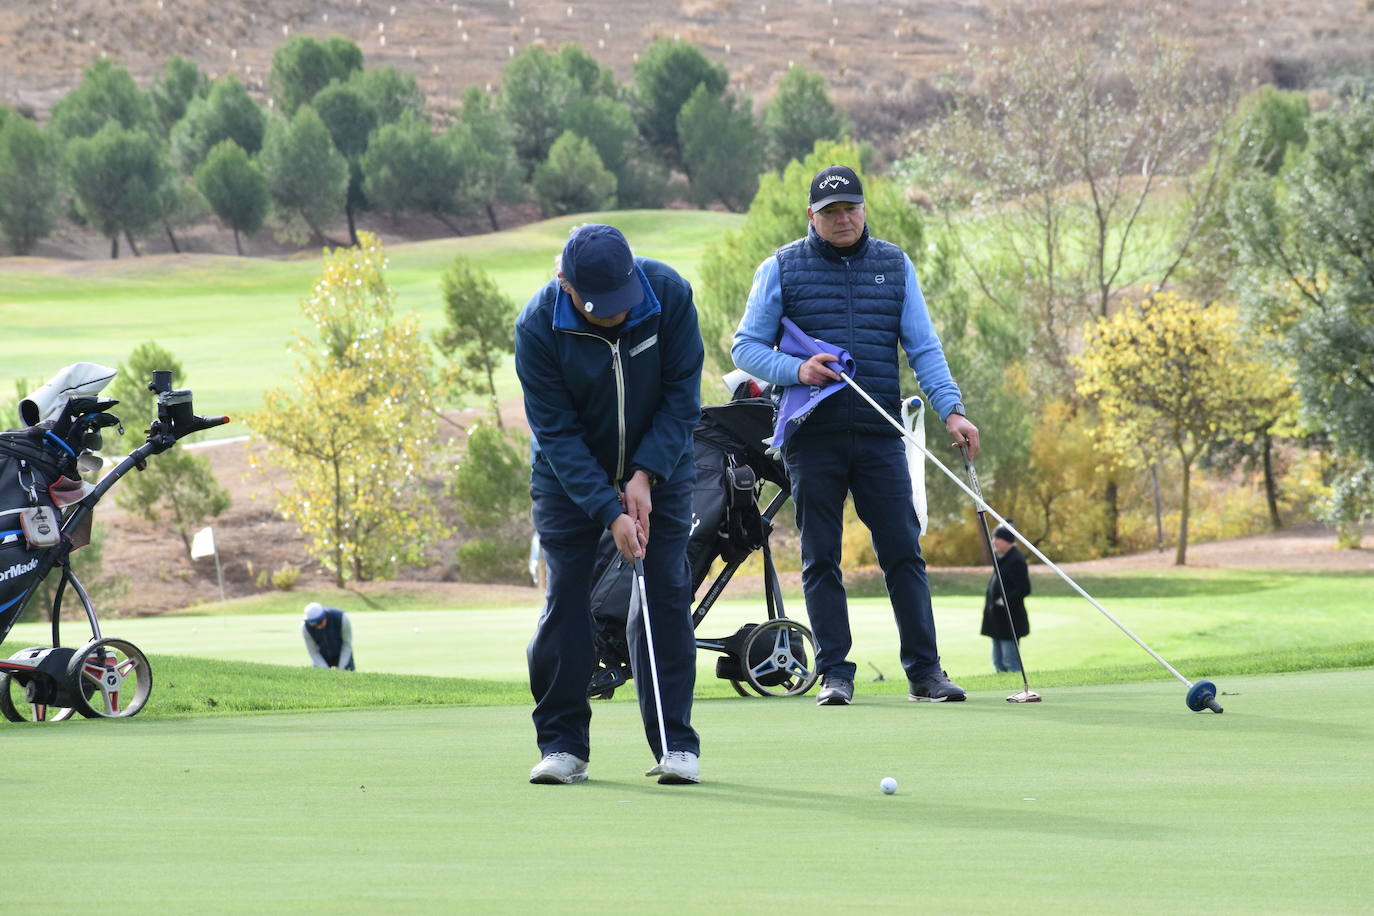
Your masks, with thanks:
M 816 637 L 822 676 L 853 680 L 849 604 L 840 569 L 845 496 L 872 536 L 908 680 L 940 670 L 930 582 L 921 556 L 921 523 L 911 504 L 903 439 L 859 433 L 811 433 L 802 426 L 783 446 L 801 529 L 801 588 Z

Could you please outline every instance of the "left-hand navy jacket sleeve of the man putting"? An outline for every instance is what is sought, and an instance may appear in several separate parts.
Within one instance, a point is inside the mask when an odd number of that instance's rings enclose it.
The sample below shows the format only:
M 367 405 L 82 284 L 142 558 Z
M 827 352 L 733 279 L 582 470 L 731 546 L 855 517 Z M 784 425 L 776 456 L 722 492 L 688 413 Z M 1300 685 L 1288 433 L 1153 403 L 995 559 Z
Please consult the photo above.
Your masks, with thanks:
M 525 393 L 529 431 L 563 492 L 588 518 L 610 527 L 622 512 L 620 496 L 587 448 L 585 430 L 558 360 L 545 342 L 523 325 L 515 328 L 515 374 Z

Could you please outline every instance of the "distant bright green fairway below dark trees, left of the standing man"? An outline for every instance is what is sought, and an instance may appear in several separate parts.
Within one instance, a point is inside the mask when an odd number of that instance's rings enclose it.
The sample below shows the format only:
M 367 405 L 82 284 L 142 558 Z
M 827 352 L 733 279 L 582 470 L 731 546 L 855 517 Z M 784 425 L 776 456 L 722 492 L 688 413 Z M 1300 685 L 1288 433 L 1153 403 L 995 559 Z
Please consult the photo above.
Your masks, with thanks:
M 455 255 L 473 258 L 523 305 L 552 272 L 567 231 L 584 221 L 621 227 L 638 254 L 661 258 L 694 280 L 708 242 L 734 228 L 736 214 L 665 210 L 580 214 L 481 236 L 387 247 L 387 280 L 397 310 L 415 310 L 426 330 L 444 323 L 440 277 Z M 383 238 L 385 243 L 386 239 Z M 157 341 L 185 367 L 202 413 L 240 415 L 265 389 L 295 371 L 286 346 L 306 331 L 300 302 L 319 277 L 320 258 L 155 255 L 118 261 L 0 262 L 0 323 L 5 328 L 0 393 L 11 379 L 44 379 L 69 363 L 118 365 L 144 341 Z M 518 393 L 514 369 L 500 396 Z M 125 417 L 131 428 L 144 422 Z M 218 435 L 243 433 L 239 423 Z

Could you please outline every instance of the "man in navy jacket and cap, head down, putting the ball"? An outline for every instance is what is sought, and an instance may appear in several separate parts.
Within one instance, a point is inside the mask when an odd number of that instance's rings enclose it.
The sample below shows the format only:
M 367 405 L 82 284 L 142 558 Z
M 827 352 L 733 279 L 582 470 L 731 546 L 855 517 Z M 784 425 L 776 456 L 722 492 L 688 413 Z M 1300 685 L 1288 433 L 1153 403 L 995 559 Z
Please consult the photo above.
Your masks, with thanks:
M 529 781 L 587 779 L 587 685 L 596 666 L 591 575 L 598 538 L 610 529 L 621 555 L 642 556 L 646 570 L 653 647 L 638 604 L 627 636 L 644 735 L 658 761 L 647 776 L 697 783 L 697 640 L 687 569 L 691 435 L 701 415 L 697 306 L 676 271 L 633 257 L 609 225 L 576 228 L 555 273 L 515 321 L 515 371 L 534 439 L 534 529 L 548 563 L 544 612 L 529 643 L 544 758 Z M 668 747 L 660 746 L 651 650 Z

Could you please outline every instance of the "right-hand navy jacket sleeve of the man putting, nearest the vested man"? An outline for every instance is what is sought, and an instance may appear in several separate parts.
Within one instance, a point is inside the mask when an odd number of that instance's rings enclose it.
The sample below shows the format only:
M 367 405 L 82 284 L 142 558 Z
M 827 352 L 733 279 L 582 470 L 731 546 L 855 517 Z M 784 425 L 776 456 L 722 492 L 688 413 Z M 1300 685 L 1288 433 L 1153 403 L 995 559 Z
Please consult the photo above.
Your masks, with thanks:
M 701 367 L 706 354 L 691 286 L 676 273 L 664 282 L 660 316 L 658 411 L 631 456 L 629 467 L 644 468 L 666 481 L 687 455 L 692 430 L 701 419 Z

